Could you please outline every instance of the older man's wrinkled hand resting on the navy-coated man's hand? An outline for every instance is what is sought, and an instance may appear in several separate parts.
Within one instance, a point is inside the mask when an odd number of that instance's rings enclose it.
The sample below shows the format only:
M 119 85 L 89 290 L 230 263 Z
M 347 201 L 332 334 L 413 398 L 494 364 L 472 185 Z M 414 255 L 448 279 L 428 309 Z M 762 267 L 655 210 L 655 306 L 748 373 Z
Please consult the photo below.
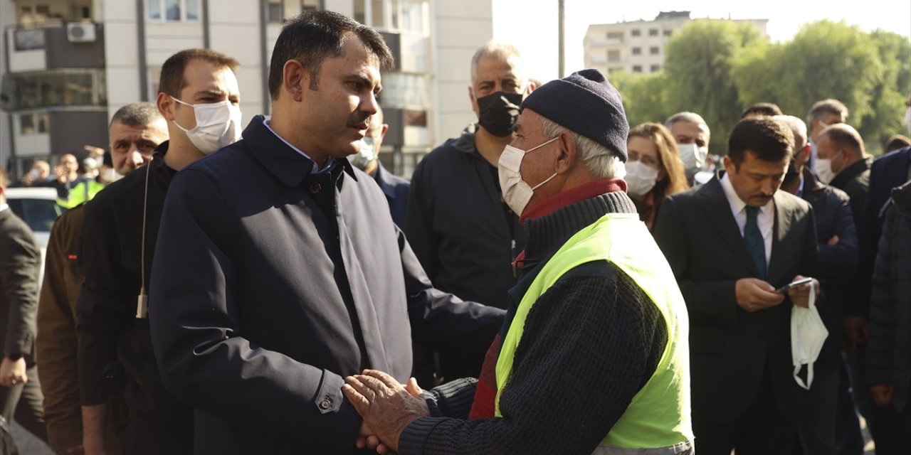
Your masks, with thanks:
M 373 433 L 387 449 L 394 451 L 398 451 L 399 436 L 404 428 L 418 418 L 430 415 L 424 399 L 412 395 L 415 389 L 419 390 L 416 381 L 414 386 L 412 380 L 408 382 L 406 389 L 383 371 L 364 369 L 361 375 L 345 378 L 342 387 L 345 398 L 363 417 L 366 432 Z M 366 443 L 370 447 L 370 437 L 366 438 Z

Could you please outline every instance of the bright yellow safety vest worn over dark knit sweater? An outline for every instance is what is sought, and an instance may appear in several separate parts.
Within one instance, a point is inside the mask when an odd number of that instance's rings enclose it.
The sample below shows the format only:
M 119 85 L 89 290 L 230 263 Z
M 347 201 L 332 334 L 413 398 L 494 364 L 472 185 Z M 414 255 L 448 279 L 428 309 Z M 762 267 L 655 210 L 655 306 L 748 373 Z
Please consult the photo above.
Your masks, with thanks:
M 528 312 L 565 273 L 595 260 L 609 261 L 629 275 L 659 308 L 668 328 L 667 345 L 658 367 L 602 444 L 622 449 L 650 449 L 688 443 L 693 440 L 693 434 L 686 303 L 667 259 L 636 214 L 601 217 L 569 238 L 541 268 L 518 305 L 496 360 L 496 417 L 502 417 L 500 395 L 509 386 Z

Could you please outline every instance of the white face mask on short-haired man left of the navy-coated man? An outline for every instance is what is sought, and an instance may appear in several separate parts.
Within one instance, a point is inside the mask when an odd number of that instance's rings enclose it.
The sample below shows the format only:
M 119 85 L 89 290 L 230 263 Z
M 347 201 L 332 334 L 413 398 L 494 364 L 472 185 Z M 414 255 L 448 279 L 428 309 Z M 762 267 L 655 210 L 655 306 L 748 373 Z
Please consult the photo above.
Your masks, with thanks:
M 234 106 L 228 100 L 219 103 L 190 105 L 171 96 L 181 105 L 193 108 L 196 115 L 196 127 L 187 129 L 175 121 L 189 141 L 200 152 L 210 155 L 221 147 L 230 146 L 241 139 L 241 107 Z

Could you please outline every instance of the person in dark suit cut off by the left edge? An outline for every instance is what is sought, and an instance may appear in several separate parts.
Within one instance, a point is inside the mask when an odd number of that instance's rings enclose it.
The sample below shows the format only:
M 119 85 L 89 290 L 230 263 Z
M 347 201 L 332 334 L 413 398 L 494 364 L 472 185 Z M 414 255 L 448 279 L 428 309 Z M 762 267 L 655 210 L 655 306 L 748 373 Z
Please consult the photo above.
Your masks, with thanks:
M 0 411 L 47 440 L 41 386 L 35 367 L 35 319 L 41 250 L 26 222 L 6 205 L 6 171 L 0 167 Z M 22 405 L 19 405 L 20 398 Z

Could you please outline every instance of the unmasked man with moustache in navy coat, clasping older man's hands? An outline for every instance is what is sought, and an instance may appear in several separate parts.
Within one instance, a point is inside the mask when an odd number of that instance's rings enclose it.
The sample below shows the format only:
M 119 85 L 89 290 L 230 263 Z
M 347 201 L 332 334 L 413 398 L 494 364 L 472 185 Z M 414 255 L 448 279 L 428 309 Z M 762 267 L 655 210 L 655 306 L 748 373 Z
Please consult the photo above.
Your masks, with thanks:
M 271 58 L 271 118 L 171 183 L 152 341 L 166 387 L 196 410 L 196 453 L 357 453 L 370 429 L 345 376 L 404 382 L 413 337 L 483 356 L 503 312 L 433 288 L 346 158 L 392 61 L 383 38 L 316 11 L 284 26 Z

